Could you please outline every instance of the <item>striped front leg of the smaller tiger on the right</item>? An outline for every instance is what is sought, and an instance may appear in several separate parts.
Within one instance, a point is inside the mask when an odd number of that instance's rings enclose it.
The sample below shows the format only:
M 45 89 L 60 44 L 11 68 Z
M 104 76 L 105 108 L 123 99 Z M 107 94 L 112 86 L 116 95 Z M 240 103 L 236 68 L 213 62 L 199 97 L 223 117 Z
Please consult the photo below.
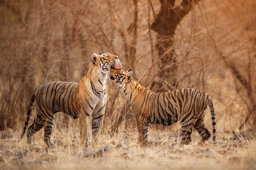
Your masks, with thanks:
M 141 146 L 146 146 L 148 144 L 148 130 L 150 124 L 148 122 L 138 122 L 137 128 L 139 132 L 138 141 Z

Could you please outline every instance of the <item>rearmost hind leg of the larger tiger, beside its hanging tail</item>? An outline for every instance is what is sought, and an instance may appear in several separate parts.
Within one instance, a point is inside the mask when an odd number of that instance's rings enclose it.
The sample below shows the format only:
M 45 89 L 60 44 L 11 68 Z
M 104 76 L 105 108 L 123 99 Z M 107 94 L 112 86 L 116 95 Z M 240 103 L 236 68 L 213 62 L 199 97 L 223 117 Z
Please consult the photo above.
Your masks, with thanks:
M 28 142 L 28 144 L 31 144 L 32 136 L 34 135 L 35 132 L 37 132 L 41 128 L 43 128 L 43 121 L 41 119 L 40 114 L 36 114 L 36 117 L 34 119 L 33 124 L 31 124 L 31 126 L 29 126 L 29 128 L 27 130 L 27 142 Z

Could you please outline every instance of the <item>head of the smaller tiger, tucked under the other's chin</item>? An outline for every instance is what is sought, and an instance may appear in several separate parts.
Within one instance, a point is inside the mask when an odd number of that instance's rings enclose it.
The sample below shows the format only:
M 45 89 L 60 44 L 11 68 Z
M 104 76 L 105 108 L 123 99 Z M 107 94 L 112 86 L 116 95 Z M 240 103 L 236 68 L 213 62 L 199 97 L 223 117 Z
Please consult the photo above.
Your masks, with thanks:
M 132 69 L 129 69 L 128 71 L 111 69 L 109 77 L 110 79 L 115 80 L 119 88 L 122 88 L 132 80 Z

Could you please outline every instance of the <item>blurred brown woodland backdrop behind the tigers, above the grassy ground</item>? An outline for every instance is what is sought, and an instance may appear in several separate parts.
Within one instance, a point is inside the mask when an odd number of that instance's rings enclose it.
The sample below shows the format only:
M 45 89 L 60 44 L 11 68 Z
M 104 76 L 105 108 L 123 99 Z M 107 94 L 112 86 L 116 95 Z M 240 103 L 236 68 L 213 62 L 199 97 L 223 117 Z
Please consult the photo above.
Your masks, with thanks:
M 208 93 L 218 132 L 256 128 L 255 0 L 1 0 L 0 23 L 1 130 L 21 130 L 39 84 L 78 82 L 92 53 L 106 52 L 153 91 Z M 77 124 L 56 119 L 56 128 Z M 110 80 L 105 122 L 136 126 Z

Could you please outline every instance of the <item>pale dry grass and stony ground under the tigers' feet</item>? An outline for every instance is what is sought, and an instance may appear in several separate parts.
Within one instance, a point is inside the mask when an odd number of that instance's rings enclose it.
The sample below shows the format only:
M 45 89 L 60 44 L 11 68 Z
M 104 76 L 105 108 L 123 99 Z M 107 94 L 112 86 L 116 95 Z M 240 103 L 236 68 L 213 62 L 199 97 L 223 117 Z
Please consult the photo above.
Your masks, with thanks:
M 4 134 L 4 132 L 2 132 Z M 6 134 L 6 132 L 5 132 Z M 9 137 L 0 139 L 0 169 L 102 169 L 102 170 L 249 170 L 256 168 L 256 141 L 254 137 L 238 135 L 232 138 L 218 134 L 199 145 L 199 135 L 193 133 L 190 145 L 174 145 L 177 131 L 150 131 L 151 144 L 141 148 L 137 144 L 137 130 L 104 129 L 97 148 L 78 150 L 79 130 L 55 130 L 58 147 L 45 148 L 43 130 L 35 134 L 33 144 L 19 141 L 19 131 L 9 131 Z M 13 137 L 11 137 L 13 135 Z

